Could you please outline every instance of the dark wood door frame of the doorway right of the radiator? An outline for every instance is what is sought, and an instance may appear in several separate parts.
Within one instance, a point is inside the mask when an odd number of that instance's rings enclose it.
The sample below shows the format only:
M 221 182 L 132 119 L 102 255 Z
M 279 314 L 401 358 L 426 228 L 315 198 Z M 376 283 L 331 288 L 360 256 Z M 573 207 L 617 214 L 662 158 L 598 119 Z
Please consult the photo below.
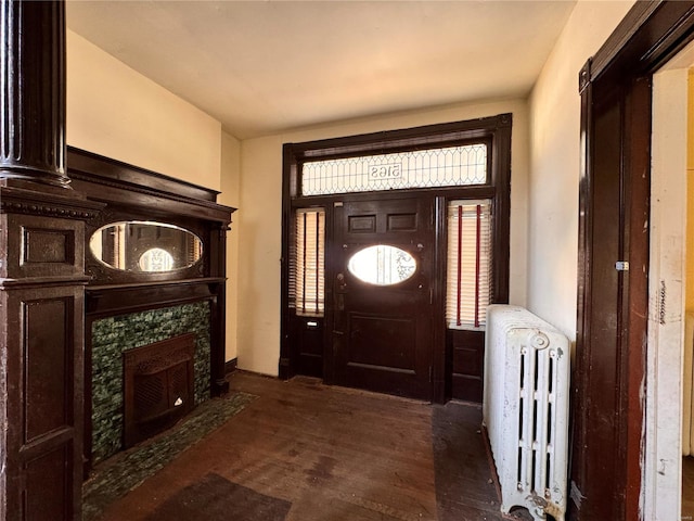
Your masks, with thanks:
M 646 340 L 650 229 L 640 230 L 650 223 L 652 79 L 693 38 L 694 3 L 637 2 L 579 75 L 582 162 L 569 519 L 650 519 L 643 510 L 650 492 L 644 490 L 644 385 L 647 352 L 653 348 Z M 596 122 L 612 110 L 619 114 L 616 131 L 601 134 Z M 630 264 L 616 287 L 595 283 L 601 270 L 609 267 L 593 264 L 601 241 L 608 240 L 593 217 L 600 201 L 595 190 L 605 176 L 614 175 L 605 165 L 609 154 L 616 154 L 612 166 L 617 165 L 622 205 L 622 258 L 614 262 Z M 617 321 L 614 343 L 600 340 L 592 330 L 594 306 L 604 302 L 616 303 L 611 312 Z M 614 380 L 591 379 L 591 372 L 612 364 L 608 358 L 615 360 Z M 602 399 L 606 385 L 616 390 L 613 408 Z M 612 418 L 614 452 L 607 472 L 594 446 L 604 435 L 601 418 Z

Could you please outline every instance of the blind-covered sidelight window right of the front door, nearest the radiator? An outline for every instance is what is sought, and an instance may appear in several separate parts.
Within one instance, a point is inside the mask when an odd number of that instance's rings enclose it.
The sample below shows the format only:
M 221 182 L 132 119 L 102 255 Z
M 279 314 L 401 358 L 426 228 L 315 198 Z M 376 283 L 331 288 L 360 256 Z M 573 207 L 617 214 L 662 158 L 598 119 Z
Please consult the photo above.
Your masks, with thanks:
M 491 201 L 448 204 L 446 322 L 484 329 L 491 300 Z

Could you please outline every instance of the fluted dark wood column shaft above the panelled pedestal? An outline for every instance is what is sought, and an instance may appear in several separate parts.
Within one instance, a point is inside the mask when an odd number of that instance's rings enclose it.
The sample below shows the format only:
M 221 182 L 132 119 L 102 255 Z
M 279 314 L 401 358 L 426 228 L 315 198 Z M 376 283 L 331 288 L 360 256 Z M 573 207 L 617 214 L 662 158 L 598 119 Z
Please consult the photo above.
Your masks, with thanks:
M 2 0 L 0 9 L 1 176 L 65 187 L 64 4 Z

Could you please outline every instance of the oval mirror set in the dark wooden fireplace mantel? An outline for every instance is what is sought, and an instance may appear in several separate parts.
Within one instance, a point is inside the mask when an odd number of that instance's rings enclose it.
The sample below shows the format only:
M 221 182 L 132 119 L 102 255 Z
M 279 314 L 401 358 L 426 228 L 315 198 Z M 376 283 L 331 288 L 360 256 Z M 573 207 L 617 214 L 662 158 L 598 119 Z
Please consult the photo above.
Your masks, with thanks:
M 114 269 L 174 271 L 203 256 L 203 241 L 183 228 L 149 220 L 124 220 L 99 228 L 89 240 L 94 257 Z

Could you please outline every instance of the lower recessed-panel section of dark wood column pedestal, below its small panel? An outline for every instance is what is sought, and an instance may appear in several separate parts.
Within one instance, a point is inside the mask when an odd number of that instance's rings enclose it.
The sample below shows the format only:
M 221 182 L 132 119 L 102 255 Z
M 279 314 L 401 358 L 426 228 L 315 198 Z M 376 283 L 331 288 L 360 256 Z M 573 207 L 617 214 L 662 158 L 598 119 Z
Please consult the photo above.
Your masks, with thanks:
M 74 519 L 81 495 L 82 287 L 27 282 L 0 295 L 9 333 L 5 519 Z

